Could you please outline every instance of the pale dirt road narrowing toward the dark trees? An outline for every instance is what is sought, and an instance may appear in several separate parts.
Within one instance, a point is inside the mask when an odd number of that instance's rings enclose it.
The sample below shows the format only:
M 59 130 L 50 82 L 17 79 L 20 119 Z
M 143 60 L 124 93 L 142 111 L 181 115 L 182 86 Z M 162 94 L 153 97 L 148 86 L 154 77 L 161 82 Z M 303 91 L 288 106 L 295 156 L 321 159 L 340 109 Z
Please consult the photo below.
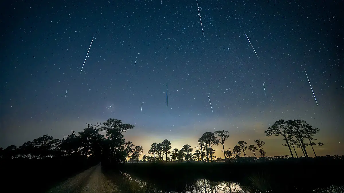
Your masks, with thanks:
M 98 164 L 58 184 L 47 193 L 118 193 L 118 188 L 101 172 Z

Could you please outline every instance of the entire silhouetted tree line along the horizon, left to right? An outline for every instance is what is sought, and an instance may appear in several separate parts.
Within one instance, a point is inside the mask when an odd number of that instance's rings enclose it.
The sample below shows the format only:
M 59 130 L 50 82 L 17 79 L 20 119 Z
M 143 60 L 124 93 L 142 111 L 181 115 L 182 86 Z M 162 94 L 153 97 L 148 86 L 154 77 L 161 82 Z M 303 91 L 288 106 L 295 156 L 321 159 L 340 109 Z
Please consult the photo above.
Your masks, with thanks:
M 135 126 L 124 124 L 122 121 L 110 118 L 104 123 L 96 125 L 87 124 L 82 132 L 72 131 L 71 135 L 67 135 L 62 139 L 54 139 L 49 135 L 44 135 L 33 141 L 27 141 L 17 148 L 11 145 L 5 149 L 0 148 L 1 159 L 46 159 L 53 157 L 67 156 L 83 156 L 87 158 L 97 158 L 106 163 L 118 162 L 138 162 L 143 154 L 142 146 L 135 146 L 130 141 L 125 141 L 123 132 L 133 129 Z M 99 132 L 104 132 L 101 134 Z M 315 143 L 317 139 L 314 136 L 318 134 L 319 129 L 312 127 L 305 121 L 301 120 L 278 120 L 268 130 L 265 131 L 266 136 L 283 136 L 286 142 L 282 144 L 288 147 L 291 158 L 298 158 L 295 148 L 300 148 L 304 157 L 309 157 L 306 147 L 310 146 L 314 156 L 316 157 L 314 146 L 322 146 L 323 143 Z M 161 143 L 153 143 L 148 155 L 143 155 L 143 162 L 157 161 L 202 161 L 202 162 L 218 162 L 218 161 L 264 161 L 280 158 L 289 158 L 286 156 L 275 156 L 274 158 L 266 157 L 263 149 L 265 144 L 260 139 L 254 140 L 254 144 L 247 146 L 245 141 L 238 141 L 233 149 L 225 148 L 225 141 L 229 139 L 228 131 L 216 130 L 214 133 L 205 132 L 199 139 L 195 151 L 190 145 L 185 144 L 180 150 L 174 148 L 171 150 L 171 143 L 165 139 Z M 224 158 L 214 156 L 214 146 L 221 146 Z M 293 151 L 292 151 L 293 149 Z M 248 155 L 251 153 L 251 155 Z M 253 155 L 253 156 L 252 156 Z

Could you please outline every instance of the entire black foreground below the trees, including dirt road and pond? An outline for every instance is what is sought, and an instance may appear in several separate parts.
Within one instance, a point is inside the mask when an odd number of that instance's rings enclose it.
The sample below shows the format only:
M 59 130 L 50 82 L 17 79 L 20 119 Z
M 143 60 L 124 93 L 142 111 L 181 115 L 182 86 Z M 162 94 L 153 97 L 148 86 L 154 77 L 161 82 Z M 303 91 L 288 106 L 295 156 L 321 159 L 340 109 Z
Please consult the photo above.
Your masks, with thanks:
M 83 164 L 60 161 L 50 165 L 40 165 L 36 160 L 30 164 L 7 163 L 16 167 L 2 170 L 8 171 L 6 175 L 2 172 L 8 177 L 2 187 L 10 188 L 11 192 L 49 193 L 335 193 L 344 192 L 343 160 L 325 157 L 262 163 L 164 162 L 103 166 L 91 160 Z

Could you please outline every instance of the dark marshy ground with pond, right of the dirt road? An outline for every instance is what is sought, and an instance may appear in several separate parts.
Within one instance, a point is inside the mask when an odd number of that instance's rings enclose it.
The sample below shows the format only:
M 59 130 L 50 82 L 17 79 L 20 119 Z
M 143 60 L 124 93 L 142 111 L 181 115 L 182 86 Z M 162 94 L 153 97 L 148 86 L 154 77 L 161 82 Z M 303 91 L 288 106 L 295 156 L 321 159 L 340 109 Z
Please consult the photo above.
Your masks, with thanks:
M 137 187 L 136 193 L 344 192 L 342 159 L 310 158 L 213 165 L 128 163 L 121 167 L 121 171 L 126 183 Z

